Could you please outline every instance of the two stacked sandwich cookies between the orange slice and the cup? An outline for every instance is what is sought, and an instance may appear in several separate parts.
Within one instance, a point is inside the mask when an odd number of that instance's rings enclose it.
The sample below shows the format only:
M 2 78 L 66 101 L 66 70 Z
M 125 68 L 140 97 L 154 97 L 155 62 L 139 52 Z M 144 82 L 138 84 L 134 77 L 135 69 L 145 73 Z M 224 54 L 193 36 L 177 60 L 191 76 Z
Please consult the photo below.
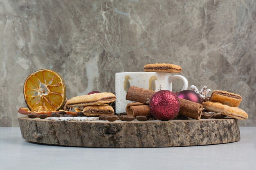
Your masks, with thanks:
M 113 93 L 94 93 L 73 97 L 67 100 L 67 106 L 82 108 L 86 116 L 114 115 L 114 109 L 108 104 L 115 101 Z M 80 111 L 79 109 L 75 110 Z

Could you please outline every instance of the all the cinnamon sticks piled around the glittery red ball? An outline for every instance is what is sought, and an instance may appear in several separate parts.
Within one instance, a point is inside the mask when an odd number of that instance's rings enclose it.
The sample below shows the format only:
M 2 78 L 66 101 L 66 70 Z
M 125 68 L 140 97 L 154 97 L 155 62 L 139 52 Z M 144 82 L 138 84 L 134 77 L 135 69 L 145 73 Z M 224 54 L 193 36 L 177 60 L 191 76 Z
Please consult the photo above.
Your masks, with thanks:
M 126 113 L 129 116 L 136 117 L 138 115 L 150 115 L 150 108 L 148 106 L 150 98 L 155 94 L 155 91 L 146 90 L 131 86 L 127 91 L 126 100 L 137 103 L 130 103 L 126 106 Z M 178 115 L 186 116 L 191 119 L 199 120 L 202 115 L 202 104 L 191 102 L 186 99 L 180 100 L 180 111 Z

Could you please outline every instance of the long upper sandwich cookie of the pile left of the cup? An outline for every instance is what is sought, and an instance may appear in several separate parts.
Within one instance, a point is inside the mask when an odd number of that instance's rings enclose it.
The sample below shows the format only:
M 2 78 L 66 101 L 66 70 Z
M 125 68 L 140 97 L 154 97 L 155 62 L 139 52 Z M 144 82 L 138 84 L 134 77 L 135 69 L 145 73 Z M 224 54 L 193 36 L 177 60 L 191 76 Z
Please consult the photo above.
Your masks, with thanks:
M 88 105 L 107 104 L 116 101 L 116 96 L 113 93 L 94 93 L 91 95 L 82 95 L 72 97 L 67 100 L 68 107 L 79 107 Z

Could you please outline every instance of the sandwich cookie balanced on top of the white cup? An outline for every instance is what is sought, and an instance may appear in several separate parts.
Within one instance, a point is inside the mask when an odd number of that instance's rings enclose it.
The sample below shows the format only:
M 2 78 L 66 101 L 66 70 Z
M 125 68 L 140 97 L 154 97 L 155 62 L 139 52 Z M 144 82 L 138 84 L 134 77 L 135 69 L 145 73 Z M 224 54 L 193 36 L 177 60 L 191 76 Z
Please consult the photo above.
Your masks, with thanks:
M 181 73 L 181 66 L 175 64 L 147 64 L 144 66 L 144 71 L 153 72 L 167 72 L 167 73 Z

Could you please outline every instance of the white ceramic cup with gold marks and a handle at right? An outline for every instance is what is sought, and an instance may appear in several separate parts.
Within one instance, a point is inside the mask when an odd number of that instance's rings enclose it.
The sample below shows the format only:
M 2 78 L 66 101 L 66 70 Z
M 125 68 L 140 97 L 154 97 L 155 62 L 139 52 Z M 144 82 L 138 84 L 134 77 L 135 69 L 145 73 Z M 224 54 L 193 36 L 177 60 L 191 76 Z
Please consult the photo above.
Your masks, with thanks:
M 182 75 L 162 72 L 123 72 L 116 73 L 116 113 L 126 112 L 125 108 L 131 101 L 126 100 L 126 93 L 130 86 L 137 86 L 151 91 L 169 90 L 172 91 L 172 82 L 175 79 L 183 81 L 183 90 L 188 88 L 188 80 Z

